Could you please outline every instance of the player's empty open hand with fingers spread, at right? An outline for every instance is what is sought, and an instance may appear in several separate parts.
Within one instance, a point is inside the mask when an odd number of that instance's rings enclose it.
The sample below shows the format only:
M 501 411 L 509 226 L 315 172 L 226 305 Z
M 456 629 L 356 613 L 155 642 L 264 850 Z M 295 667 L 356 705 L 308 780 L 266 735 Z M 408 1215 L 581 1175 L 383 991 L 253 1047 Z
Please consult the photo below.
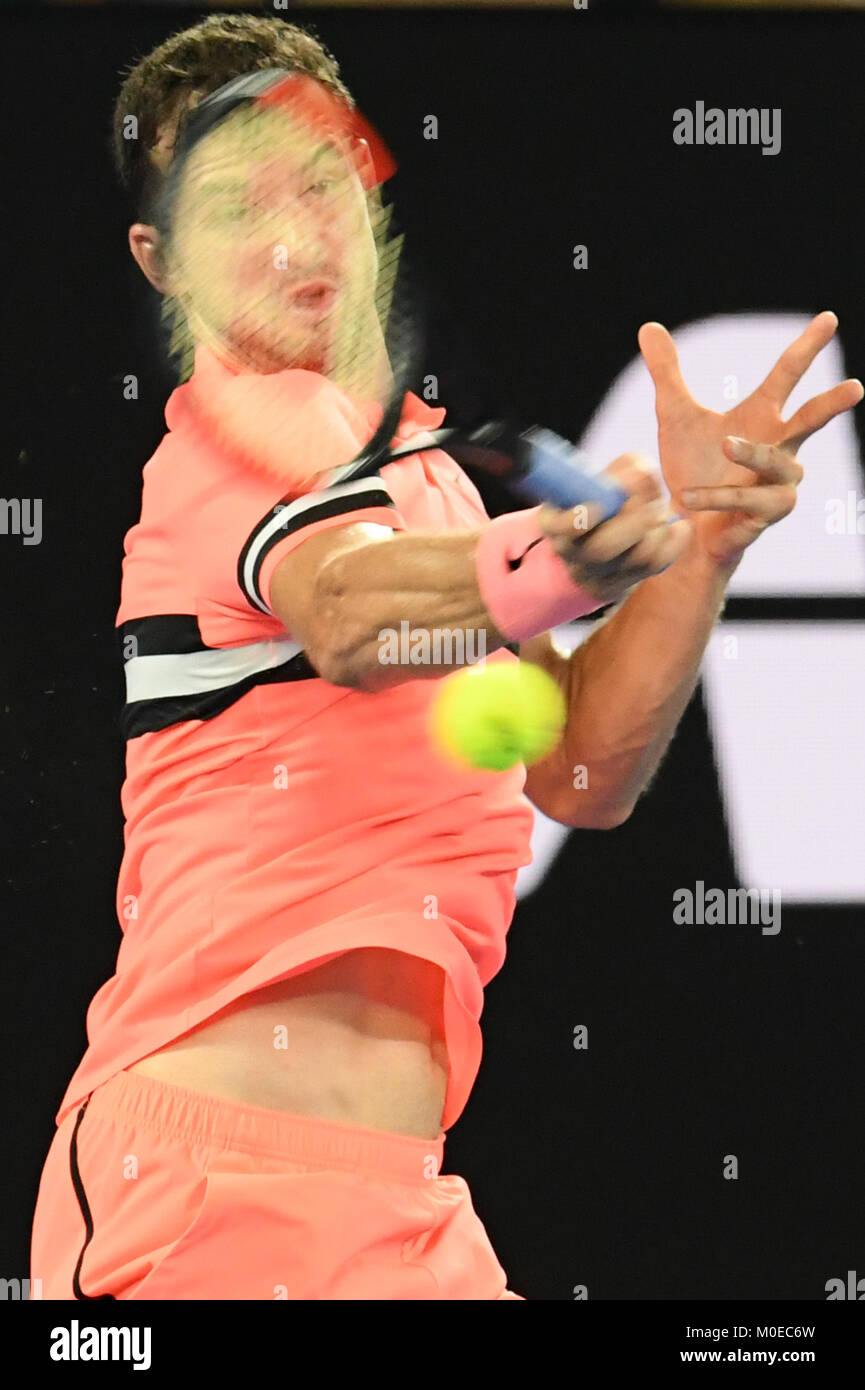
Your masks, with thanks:
M 804 470 L 797 450 L 865 395 L 854 377 L 812 396 L 790 420 L 782 409 L 839 321 L 823 311 L 784 349 L 766 379 L 726 414 L 691 396 L 673 339 L 662 324 L 637 335 L 655 384 L 661 468 L 694 542 L 719 564 L 737 564 L 766 527 L 789 516 Z

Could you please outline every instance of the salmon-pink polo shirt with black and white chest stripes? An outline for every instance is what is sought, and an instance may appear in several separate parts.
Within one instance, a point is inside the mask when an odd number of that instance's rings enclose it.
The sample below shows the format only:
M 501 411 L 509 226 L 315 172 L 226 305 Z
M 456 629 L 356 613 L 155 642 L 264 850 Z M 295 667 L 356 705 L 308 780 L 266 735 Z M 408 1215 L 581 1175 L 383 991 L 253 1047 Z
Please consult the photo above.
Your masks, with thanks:
M 312 374 L 282 375 L 288 389 Z M 389 947 L 445 973 L 448 1129 L 477 1076 L 483 990 L 505 959 L 516 874 L 531 859 L 526 770 L 446 763 L 427 733 L 434 680 L 374 695 L 321 680 L 271 612 L 270 582 L 327 527 L 467 531 L 487 513 L 435 449 L 285 503 L 280 481 L 203 430 L 195 382 L 167 403 L 168 432 L 125 538 L 121 941 L 57 1122 L 241 995 L 357 947 Z M 410 395 L 395 443 L 444 414 Z M 343 399 L 332 427 L 360 449 L 374 423 Z

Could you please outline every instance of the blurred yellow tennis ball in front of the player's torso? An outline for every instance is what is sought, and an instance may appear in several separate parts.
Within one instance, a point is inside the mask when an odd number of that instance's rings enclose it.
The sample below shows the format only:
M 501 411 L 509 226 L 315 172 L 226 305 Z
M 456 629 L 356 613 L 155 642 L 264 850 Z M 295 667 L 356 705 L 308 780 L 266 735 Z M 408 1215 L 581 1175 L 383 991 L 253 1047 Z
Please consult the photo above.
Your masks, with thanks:
M 430 710 L 434 742 L 470 767 L 505 771 L 537 763 L 562 737 L 565 695 L 531 662 L 466 666 L 439 682 Z

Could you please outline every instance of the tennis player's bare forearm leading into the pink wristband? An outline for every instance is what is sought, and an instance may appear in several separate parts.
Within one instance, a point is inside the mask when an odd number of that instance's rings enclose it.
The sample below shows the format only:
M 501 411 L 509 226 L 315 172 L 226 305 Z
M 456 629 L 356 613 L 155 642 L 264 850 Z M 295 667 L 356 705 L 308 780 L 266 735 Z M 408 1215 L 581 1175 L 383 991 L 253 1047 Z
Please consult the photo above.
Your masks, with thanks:
M 373 692 L 438 678 L 502 646 L 477 584 L 478 537 L 399 534 L 328 560 L 314 603 L 325 680 Z

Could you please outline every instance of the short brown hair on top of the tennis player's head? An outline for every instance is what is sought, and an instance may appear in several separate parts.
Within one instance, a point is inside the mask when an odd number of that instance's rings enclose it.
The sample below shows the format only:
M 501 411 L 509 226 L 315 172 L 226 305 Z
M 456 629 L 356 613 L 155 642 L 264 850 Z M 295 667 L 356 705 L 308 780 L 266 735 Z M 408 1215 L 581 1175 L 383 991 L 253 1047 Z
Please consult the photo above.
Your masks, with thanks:
M 355 107 L 339 81 L 339 64 L 309 25 L 302 29 L 263 15 L 210 14 L 172 33 L 127 72 L 114 104 L 114 165 L 140 221 L 149 220 L 161 185 L 150 152 L 163 125 L 182 115 L 193 93 L 207 96 L 259 68 L 306 72 Z M 135 139 L 128 138 L 129 117 L 136 120 Z

